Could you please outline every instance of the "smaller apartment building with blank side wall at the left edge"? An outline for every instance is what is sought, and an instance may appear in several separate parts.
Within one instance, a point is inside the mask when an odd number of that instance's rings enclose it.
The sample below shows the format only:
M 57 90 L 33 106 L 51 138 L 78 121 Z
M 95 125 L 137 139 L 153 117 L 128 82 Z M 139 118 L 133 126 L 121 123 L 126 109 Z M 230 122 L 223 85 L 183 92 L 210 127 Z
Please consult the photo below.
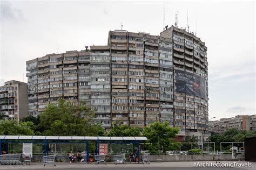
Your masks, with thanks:
M 0 87 L 0 113 L 4 119 L 17 120 L 28 116 L 28 86 L 11 80 Z

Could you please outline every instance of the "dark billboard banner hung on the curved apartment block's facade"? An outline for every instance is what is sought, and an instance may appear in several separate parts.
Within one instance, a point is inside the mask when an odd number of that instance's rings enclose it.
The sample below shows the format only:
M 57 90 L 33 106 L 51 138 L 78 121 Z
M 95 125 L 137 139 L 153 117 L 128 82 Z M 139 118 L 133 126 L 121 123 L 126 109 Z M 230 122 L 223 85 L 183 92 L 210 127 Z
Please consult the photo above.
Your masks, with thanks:
M 176 70 L 176 91 L 197 97 L 206 98 L 206 81 L 193 73 Z

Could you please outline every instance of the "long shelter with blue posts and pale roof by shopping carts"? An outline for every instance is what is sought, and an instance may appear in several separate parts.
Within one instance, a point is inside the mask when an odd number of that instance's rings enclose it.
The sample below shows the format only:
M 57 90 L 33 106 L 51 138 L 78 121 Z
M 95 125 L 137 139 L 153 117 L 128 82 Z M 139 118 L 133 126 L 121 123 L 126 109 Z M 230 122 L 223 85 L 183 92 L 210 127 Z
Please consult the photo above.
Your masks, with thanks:
M 132 145 L 132 152 L 134 154 L 137 147 L 136 154 L 138 155 L 138 163 L 140 160 L 140 141 L 147 140 L 146 137 L 91 137 L 91 136 L 0 136 L 0 154 L 24 153 L 32 150 L 39 154 L 49 155 L 69 153 L 70 148 L 81 150 L 86 155 L 86 161 L 89 164 L 89 150 L 96 144 L 96 154 L 112 153 L 109 145 L 117 145 L 118 147 L 124 145 Z M 10 147 L 10 148 L 9 148 Z M 26 147 L 24 149 L 24 147 Z M 31 147 L 31 148 L 30 148 Z M 33 149 L 32 149 L 33 148 Z M 58 148 L 58 152 L 57 152 Z M 93 148 L 91 148 L 93 150 Z M 130 151 L 131 152 L 131 151 Z

